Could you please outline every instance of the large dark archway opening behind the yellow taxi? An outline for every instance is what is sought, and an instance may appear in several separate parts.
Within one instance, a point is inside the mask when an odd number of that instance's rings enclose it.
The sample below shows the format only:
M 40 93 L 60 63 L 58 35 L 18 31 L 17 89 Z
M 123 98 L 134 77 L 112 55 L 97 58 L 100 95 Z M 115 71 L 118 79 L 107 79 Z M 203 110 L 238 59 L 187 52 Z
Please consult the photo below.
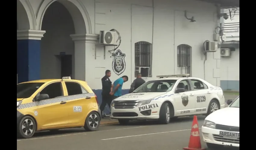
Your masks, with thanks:
M 41 41 L 41 79 L 74 77 L 75 47 L 70 35 L 86 34 L 84 18 L 70 1 L 55 1 L 46 9 Z M 85 63 L 85 62 L 84 62 Z

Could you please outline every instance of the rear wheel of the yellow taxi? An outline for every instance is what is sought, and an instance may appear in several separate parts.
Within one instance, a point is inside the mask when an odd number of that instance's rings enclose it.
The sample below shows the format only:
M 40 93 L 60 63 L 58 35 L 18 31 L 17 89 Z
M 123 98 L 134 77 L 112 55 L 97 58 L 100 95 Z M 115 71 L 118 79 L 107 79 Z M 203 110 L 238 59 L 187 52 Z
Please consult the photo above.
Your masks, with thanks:
M 93 111 L 86 117 L 84 129 L 86 131 L 97 131 L 100 125 L 100 116 L 97 112 Z

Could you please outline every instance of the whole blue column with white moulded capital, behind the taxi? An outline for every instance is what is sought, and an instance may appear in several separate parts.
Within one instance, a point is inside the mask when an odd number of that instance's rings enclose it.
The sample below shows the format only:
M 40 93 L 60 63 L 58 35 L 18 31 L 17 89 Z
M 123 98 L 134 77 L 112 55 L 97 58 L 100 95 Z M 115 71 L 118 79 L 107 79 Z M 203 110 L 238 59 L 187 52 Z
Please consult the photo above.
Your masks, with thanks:
M 42 30 L 17 30 L 18 83 L 40 79 Z

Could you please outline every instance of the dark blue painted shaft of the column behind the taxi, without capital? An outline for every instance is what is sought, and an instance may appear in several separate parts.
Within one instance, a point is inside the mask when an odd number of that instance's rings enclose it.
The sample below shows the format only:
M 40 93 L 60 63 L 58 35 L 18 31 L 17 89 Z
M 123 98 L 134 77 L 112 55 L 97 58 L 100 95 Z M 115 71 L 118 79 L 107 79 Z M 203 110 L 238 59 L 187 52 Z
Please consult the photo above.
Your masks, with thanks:
M 17 40 L 18 83 L 40 79 L 40 40 Z

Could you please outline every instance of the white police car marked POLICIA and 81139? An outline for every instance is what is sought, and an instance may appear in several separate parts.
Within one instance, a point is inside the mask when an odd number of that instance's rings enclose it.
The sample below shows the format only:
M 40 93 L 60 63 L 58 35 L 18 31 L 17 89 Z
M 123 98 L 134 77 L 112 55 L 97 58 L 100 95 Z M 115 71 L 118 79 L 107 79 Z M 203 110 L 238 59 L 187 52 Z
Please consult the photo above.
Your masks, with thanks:
M 135 91 L 111 102 L 111 119 L 127 124 L 133 119 L 159 119 L 168 124 L 171 118 L 190 115 L 208 115 L 224 108 L 220 87 L 185 75 L 157 76 Z

